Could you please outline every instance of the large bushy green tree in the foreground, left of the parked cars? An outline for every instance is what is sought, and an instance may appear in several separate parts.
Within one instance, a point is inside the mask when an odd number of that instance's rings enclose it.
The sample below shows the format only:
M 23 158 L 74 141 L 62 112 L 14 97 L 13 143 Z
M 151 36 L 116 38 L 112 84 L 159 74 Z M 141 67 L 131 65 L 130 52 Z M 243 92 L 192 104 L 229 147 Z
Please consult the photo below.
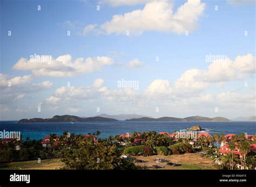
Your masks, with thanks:
M 109 137 L 95 143 L 93 136 L 78 138 L 77 147 L 69 145 L 62 150 L 66 169 L 137 169 L 130 161 L 122 159 L 121 153 Z

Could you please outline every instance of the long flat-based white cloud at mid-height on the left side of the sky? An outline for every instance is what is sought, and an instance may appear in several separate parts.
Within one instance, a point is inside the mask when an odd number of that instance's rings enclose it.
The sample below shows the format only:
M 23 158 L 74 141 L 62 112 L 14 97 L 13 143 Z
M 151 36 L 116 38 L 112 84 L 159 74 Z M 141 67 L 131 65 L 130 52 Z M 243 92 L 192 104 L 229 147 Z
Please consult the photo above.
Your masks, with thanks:
M 32 70 L 36 76 L 72 77 L 93 71 L 99 71 L 104 66 L 114 63 L 107 56 L 77 58 L 72 60 L 70 55 L 63 55 L 52 59 L 50 63 L 32 62 L 23 57 L 12 67 L 15 70 Z

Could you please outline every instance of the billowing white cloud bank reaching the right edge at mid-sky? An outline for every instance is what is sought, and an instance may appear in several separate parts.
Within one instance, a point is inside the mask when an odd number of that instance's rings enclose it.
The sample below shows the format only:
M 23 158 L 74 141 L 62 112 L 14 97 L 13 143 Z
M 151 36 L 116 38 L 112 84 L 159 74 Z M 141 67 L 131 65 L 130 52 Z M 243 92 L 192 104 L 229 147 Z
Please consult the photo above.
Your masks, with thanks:
M 255 67 L 255 57 L 252 54 L 237 56 L 234 61 L 229 58 L 216 60 L 208 66 L 207 70 L 187 70 L 175 82 L 174 92 L 187 94 L 203 91 L 211 82 L 223 85 L 227 81 L 239 80 L 254 74 Z

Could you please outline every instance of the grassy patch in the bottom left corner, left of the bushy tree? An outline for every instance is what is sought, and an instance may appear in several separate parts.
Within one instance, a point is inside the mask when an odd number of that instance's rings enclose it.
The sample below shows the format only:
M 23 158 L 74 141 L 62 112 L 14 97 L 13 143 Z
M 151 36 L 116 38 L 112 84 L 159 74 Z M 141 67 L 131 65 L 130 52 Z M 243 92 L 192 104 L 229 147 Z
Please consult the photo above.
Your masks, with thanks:
M 35 161 L 10 162 L 0 164 L 0 169 L 60 169 L 64 164 L 60 159 L 41 160 L 41 163 Z

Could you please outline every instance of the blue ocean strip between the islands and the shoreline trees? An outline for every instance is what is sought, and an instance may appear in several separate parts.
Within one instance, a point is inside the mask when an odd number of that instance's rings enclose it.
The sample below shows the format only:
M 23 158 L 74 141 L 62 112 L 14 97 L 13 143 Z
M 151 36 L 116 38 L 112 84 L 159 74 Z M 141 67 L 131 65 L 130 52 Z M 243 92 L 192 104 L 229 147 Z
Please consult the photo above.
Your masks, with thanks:
M 17 121 L 0 121 L 0 131 L 20 131 L 23 139 L 43 139 L 46 135 L 56 133 L 61 135 L 64 131 L 76 134 L 87 134 L 100 131 L 102 134 L 98 138 L 108 136 L 133 133 L 133 132 L 169 132 L 186 130 L 192 126 L 199 125 L 205 129 L 203 132 L 209 134 L 256 134 L 255 121 L 228 121 L 228 122 L 208 122 L 208 121 L 114 121 L 102 123 L 17 123 Z M 202 132 L 202 131 L 201 131 Z

